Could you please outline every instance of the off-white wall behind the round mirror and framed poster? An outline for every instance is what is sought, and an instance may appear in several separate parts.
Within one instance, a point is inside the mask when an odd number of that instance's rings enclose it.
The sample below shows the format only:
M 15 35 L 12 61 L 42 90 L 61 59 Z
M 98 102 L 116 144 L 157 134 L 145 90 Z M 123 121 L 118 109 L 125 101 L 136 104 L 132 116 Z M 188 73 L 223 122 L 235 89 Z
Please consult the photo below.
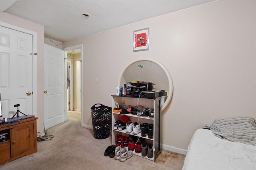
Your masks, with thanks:
M 142 57 L 163 63 L 173 80 L 164 149 L 186 150 L 194 131 L 216 118 L 256 118 L 255 9 L 256 1 L 221 0 L 64 43 L 84 47 L 84 125 L 92 125 L 94 104 L 111 106 L 120 72 Z M 133 52 L 133 31 L 146 27 L 150 50 Z

